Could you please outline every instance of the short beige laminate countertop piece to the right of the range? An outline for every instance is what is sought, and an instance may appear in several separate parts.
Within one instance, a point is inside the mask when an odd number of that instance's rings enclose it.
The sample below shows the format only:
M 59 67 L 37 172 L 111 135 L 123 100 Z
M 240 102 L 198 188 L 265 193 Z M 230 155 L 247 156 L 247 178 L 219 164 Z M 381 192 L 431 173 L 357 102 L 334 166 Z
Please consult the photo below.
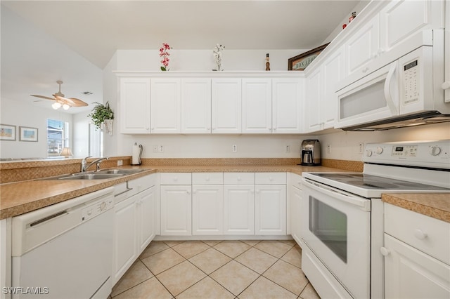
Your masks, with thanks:
M 388 204 L 450 222 L 450 193 L 394 193 L 383 194 Z

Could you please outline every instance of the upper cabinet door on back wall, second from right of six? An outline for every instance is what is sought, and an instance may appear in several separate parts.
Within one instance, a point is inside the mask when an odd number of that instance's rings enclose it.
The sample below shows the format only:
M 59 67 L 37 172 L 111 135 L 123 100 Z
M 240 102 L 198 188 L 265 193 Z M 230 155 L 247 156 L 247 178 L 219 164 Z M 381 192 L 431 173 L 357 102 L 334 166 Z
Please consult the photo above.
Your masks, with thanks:
M 271 133 L 271 79 L 242 79 L 242 132 Z

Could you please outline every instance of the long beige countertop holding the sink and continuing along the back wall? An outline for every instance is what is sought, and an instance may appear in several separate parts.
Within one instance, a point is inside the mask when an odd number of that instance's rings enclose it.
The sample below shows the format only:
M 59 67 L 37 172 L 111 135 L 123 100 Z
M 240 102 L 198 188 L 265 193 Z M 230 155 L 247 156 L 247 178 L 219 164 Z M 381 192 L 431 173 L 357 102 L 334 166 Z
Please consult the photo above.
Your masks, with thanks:
M 25 180 L 0 185 L 0 220 L 44 208 L 51 204 L 82 196 L 120 182 L 150 173 L 167 172 L 292 172 L 342 171 L 324 166 L 123 166 L 123 169 L 144 169 L 140 173 L 105 180 Z

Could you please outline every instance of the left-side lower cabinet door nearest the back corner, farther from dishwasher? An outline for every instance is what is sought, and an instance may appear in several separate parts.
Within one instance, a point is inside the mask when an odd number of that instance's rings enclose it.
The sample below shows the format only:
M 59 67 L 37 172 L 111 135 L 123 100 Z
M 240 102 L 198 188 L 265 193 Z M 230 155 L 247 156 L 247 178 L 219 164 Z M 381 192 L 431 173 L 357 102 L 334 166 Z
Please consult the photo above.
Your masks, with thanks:
M 155 237 L 155 187 L 151 187 L 136 195 L 138 210 L 138 248 L 139 254 L 150 244 Z

